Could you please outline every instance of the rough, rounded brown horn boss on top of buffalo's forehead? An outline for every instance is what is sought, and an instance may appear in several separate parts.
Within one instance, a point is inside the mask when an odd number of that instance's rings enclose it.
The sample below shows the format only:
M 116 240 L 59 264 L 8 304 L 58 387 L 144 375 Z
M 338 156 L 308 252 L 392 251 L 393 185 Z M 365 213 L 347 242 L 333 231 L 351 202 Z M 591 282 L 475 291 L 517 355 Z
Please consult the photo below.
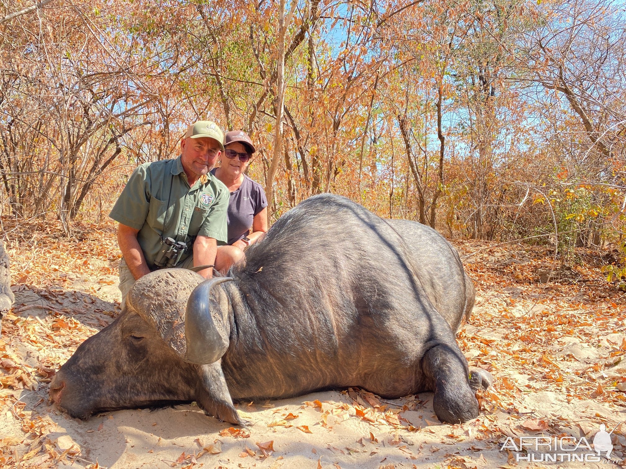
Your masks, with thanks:
M 193 289 L 203 280 L 200 274 L 186 269 L 157 270 L 137 280 L 126 296 L 126 306 L 153 326 L 185 361 L 185 308 Z

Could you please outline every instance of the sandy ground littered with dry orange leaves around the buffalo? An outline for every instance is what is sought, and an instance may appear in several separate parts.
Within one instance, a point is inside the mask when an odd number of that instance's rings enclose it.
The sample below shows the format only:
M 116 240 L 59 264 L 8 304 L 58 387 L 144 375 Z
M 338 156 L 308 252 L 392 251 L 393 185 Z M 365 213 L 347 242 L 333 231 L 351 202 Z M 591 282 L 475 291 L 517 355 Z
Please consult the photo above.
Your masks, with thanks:
M 484 262 L 468 271 L 478 275 Z M 463 425 L 440 423 L 431 393 L 385 401 L 362 390 L 240 403 L 248 428 L 232 428 L 195 405 L 76 420 L 48 405 L 48 382 L 82 340 L 113 321 L 119 292 L 114 275 L 97 282 L 60 275 L 63 288 L 14 286 L 14 310 L 0 341 L 0 466 L 506 468 L 529 465 L 516 462 L 515 451 L 500 450 L 507 436 L 586 435 L 591 443 L 600 423 L 612 429 L 626 421 L 621 306 L 608 298 L 567 310 L 545 286 L 507 287 L 488 274 L 477 283 L 476 307 L 459 343 L 470 364 L 490 370 L 496 382 L 480 396 L 480 417 Z M 557 316 L 548 316 L 555 310 Z M 544 338 L 551 324 L 557 333 Z M 623 433 L 618 426 L 612 434 L 615 461 L 530 466 L 622 465 Z

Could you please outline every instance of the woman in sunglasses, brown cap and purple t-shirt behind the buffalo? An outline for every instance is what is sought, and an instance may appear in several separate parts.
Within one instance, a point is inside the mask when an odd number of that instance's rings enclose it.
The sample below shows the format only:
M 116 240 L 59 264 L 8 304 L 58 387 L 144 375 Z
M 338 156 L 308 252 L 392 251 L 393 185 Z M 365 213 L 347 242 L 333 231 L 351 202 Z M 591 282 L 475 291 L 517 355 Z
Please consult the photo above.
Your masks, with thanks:
M 215 264 L 230 266 L 244 258 L 244 250 L 267 231 L 267 198 L 259 183 L 245 170 L 256 149 L 244 131 L 233 130 L 224 137 L 222 166 L 211 171 L 230 191 L 228 203 L 228 245 L 217 250 Z M 252 233 L 249 233 L 252 227 Z

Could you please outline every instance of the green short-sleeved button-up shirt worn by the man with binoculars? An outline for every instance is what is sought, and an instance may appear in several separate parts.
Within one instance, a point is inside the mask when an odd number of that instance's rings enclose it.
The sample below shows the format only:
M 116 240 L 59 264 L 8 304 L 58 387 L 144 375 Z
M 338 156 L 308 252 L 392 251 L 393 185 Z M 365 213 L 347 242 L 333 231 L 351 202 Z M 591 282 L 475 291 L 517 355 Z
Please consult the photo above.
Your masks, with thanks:
M 215 176 L 207 177 L 190 187 L 180 156 L 141 164 L 131 174 L 109 216 L 139 230 L 137 240 L 151 269 L 165 238 L 187 243 L 208 236 L 226 244 L 230 193 Z

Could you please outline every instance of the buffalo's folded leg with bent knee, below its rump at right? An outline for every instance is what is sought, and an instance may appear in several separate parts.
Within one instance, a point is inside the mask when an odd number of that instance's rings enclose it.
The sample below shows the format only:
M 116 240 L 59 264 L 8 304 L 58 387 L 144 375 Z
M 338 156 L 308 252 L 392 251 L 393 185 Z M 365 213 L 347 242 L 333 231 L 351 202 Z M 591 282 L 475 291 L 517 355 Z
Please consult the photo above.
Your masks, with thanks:
M 434 390 L 433 408 L 439 420 L 459 423 L 478 416 L 478 400 L 469 386 L 467 361 L 458 347 L 434 346 L 424 355 L 422 368 Z

